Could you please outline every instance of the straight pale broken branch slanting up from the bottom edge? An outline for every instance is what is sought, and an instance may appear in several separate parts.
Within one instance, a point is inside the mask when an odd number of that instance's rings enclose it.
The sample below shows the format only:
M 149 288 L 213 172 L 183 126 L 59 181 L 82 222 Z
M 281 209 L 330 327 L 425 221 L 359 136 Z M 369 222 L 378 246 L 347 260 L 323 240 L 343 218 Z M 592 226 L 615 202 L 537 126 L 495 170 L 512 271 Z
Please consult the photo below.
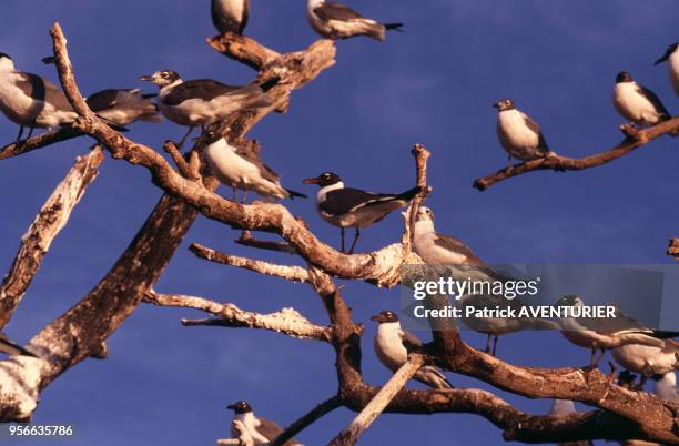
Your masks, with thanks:
M 424 363 L 424 356 L 412 354 L 408 361 L 396 371 L 394 376 L 377 392 L 377 395 L 361 410 L 358 416 L 330 443 L 330 446 L 351 446 L 356 443 L 361 434 L 373 424 L 394 396 L 422 368 Z

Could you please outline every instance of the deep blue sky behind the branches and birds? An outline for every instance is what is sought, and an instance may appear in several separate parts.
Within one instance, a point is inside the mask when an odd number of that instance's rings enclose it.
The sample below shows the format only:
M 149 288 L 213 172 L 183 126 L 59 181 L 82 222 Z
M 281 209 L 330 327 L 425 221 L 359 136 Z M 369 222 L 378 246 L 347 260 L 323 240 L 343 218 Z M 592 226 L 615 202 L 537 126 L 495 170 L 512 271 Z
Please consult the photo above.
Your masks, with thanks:
M 609 165 L 585 172 L 537 172 L 486 192 L 475 178 L 504 166 L 491 102 L 509 97 L 538 123 L 553 150 L 582 156 L 615 145 L 622 123 L 612 109 L 615 75 L 626 70 L 656 91 L 673 113 L 677 98 L 665 67 L 652 67 L 679 39 L 675 0 L 408 0 L 351 1 L 366 16 L 403 21 L 405 33 L 385 43 L 354 39 L 338 43 L 337 64 L 295 92 L 286 115 L 271 115 L 252 132 L 265 161 L 283 183 L 332 170 L 349 185 L 398 192 L 413 185 L 409 149 L 433 152 L 428 204 L 437 229 L 469 244 L 487 262 L 671 263 L 667 240 L 678 234 L 677 141 L 665 138 Z M 253 0 L 249 36 L 278 51 L 310 44 L 306 2 Z M 6 0 L 0 51 L 19 69 L 55 80 L 40 59 L 51 52 L 49 27 L 59 21 L 84 92 L 149 88 L 140 74 L 173 69 L 185 79 L 247 82 L 252 70 L 211 50 L 209 1 Z M 0 135 L 16 138 L 0 119 Z M 183 129 L 136 124 L 130 136 L 155 148 Z M 21 234 L 73 159 L 89 142 L 73 140 L 0 162 L 0 271 L 11 264 Z M 71 223 L 52 245 L 8 334 L 29 339 L 105 274 L 161 193 L 145 170 L 108 159 Z M 226 196 L 230 192 L 222 190 Z M 308 192 L 315 192 L 308 189 Z M 337 244 L 311 201 L 287 203 L 318 236 Z M 396 241 L 401 219 L 392 215 L 364 232 L 359 250 Z M 230 253 L 276 262 L 295 259 L 233 244 L 237 234 L 200 219 L 156 286 L 261 312 L 294 306 L 325 323 L 308 286 L 200 261 L 186 251 L 201 242 Z M 398 292 L 347 284 L 355 317 L 367 323 L 363 339 L 366 379 L 388 373 L 372 351 L 369 316 L 398 306 Z M 327 345 L 244 330 L 184 328 L 183 310 L 141 306 L 110 338 L 107 361 L 85 361 L 42 395 L 39 424 L 73 424 L 78 445 L 213 444 L 229 432 L 224 408 L 249 399 L 255 412 L 288 424 L 336 389 Z M 465 333 L 473 345 L 480 336 Z M 500 341 L 499 356 L 516 364 L 582 365 L 588 353 L 559 334 L 518 334 Z M 449 376 L 456 385 L 479 385 Z M 507 396 L 503 392 L 498 392 Z M 509 397 L 518 407 L 544 413 L 547 401 Z M 300 439 L 323 444 L 352 418 L 340 409 Z M 362 444 L 494 445 L 500 432 L 473 415 L 385 415 Z M 10 444 L 12 444 L 10 442 Z M 26 443 L 13 443 L 17 445 Z M 50 444 L 59 444 L 51 442 Z M 69 442 L 69 444 L 73 444 Z

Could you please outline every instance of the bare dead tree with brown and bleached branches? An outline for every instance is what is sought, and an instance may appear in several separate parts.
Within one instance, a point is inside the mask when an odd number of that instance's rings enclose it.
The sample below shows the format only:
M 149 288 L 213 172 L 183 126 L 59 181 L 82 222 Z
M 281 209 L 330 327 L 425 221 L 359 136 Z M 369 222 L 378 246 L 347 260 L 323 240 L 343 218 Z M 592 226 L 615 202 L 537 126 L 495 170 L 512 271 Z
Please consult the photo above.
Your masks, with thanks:
M 467 345 L 455 326 L 432 326 L 434 341 L 414 352 L 409 361 L 383 387 L 366 383 L 361 371 L 363 326 L 352 317 L 335 278 L 363 281 L 374 286 L 392 287 L 401 281 L 401 266 L 422 260 L 412 252 L 411 234 L 417 206 L 429 189 L 426 165 L 429 152 L 415 145 L 415 183 L 423 193 L 405 214 L 404 233 L 399 241 L 364 254 L 346 255 L 321 242 L 300 219 L 281 204 L 255 202 L 242 205 L 214 193 L 216 181 L 201 162 L 202 145 L 196 143 L 185 155 L 173 144 L 164 150 L 171 164 L 153 148 L 139 144 L 102 122 L 83 101 L 74 70 L 69 60 L 67 41 L 59 24 L 51 29 L 54 57 L 61 85 L 78 112 L 72 129 L 34 136 L 24 144 L 0 149 L 0 159 L 21 155 L 30 150 L 47 148 L 63 139 L 87 136 L 97 142 L 93 151 L 79 159 L 73 170 L 48 201 L 29 230 L 8 278 L 0 288 L 2 324 L 11 317 L 21 296 L 37 273 L 49 241 L 65 224 L 70 209 L 94 180 L 95 171 L 108 152 L 113 160 L 146 169 L 151 182 L 165 195 L 153 209 L 128 249 L 109 273 L 75 304 L 47 325 L 28 347 L 39 357 L 14 356 L 0 362 L 0 420 L 30 420 L 38 408 L 41 392 L 62 373 L 88 357 L 107 356 L 107 338 L 121 327 L 142 302 L 158 306 L 188 307 L 203 311 L 209 318 L 182 320 L 186 326 L 219 325 L 275 331 L 283 335 L 327 343 L 336 355 L 337 392 L 302 415 L 272 444 L 280 445 L 328 412 L 344 406 L 358 416 L 334 439 L 333 445 L 354 444 L 362 432 L 382 413 L 478 414 L 503 430 L 507 440 L 557 443 L 578 439 L 640 438 L 679 444 L 677 413 L 679 407 L 643 392 L 618 386 L 598 369 L 535 368 L 514 365 L 489 356 Z M 285 111 L 291 93 L 315 79 L 334 64 L 335 45 L 320 40 L 306 50 L 280 54 L 252 39 L 226 33 L 210 39 L 209 44 L 231 59 L 259 71 L 259 78 L 280 77 L 282 82 L 271 90 L 274 105 L 259 111 L 242 111 L 219 125 L 231 142 L 255 144 L 245 139 L 247 131 L 272 111 Z M 679 119 L 641 132 L 629 133 L 620 146 L 591 160 L 549 159 L 500 171 L 478 182 L 485 187 L 494 182 L 537 169 L 585 169 L 601 164 L 637 149 L 671 130 L 679 129 Z M 54 202 L 62 202 L 59 206 Z M 267 274 L 313 287 L 326 311 L 327 323 L 308 321 L 294 308 L 272 314 L 259 314 L 204 297 L 164 294 L 154 284 L 186 231 L 199 215 L 243 230 L 240 242 L 253 249 L 292 253 L 305 267 L 273 264 L 255 259 L 220 253 L 193 244 L 191 251 L 205 260 Z M 254 232 L 276 234 L 280 242 L 257 240 Z M 564 398 L 581 402 L 592 409 L 566 416 L 534 415 L 521 412 L 497 395 L 476 388 L 446 391 L 404 388 L 406 382 L 423 365 L 437 365 L 446 371 L 473 376 L 499 389 L 529 398 Z M 242 444 L 252 438 L 242 438 Z M 234 442 L 229 442 L 233 444 Z M 237 442 L 236 442 L 237 443 Z M 225 443 L 226 444 L 226 443 Z

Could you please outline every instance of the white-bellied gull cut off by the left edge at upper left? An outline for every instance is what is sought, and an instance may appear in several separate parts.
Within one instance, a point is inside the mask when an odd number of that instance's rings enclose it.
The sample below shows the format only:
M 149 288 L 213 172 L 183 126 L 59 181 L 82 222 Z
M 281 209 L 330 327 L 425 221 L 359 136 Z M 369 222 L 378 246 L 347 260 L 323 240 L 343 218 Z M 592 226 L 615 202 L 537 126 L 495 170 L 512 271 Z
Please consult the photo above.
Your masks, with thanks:
M 19 124 L 17 141 L 24 128 L 30 129 L 30 138 L 36 128 L 68 125 L 78 118 L 63 91 L 44 78 L 17 70 L 6 53 L 0 53 L 0 110 Z

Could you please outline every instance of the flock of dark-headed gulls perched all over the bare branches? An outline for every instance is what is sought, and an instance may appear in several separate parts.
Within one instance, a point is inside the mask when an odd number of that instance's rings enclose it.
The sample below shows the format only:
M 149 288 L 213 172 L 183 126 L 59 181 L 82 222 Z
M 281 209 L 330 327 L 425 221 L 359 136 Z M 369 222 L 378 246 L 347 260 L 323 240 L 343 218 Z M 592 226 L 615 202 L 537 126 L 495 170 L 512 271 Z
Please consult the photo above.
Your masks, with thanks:
M 249 0 L 212 0 L 211 11 L 213 23 L 221 33 L 243 34 L 249 20 Z M 383 41 L 386 31 L 399 30 L 403 27 L 402 23 L 382 23 L 365 18 L 346 6 L 324 0 L 308 0 L 307 18 L 318 34 L 333 40 L 365 36 Z M 670 45 L 656 62 L 668 63 L 670 81 L 677 95 L 678 47 L 678 43 Z M 53 58 L 45 58 L 43 61 L 54 62 Z M 280 176 L 262 162 L 259 153 L 234 146 L 221 134 L 206 131 L 210 124 L 222 122 L 235 112 L 274 105 L 274 100 L 267 92 L 278 84 L 278 78 L 234 87 L 212 79 L 184 81 L 172 70 L 161 70 L 143 75 L 140 80 L 158 85 L 158 94 L 144 94 L 141 89 L 107 89 L 89 95 L 88 105 L 104 122 L 120 131 L 126 131 L 126 126 L 136 121 L 161 122 L 162 118 L 185 126 L 188 131 L 178 144 L 180 148 L 195 128 L 201 128 L 205 159 L 219 181 L 233 189 L 234 201 L 237 201 L 236 190 L 243 191 L 242 203 L 246 202 L 249 191 L 268 200 L 306 197 L 300 192 L 283 187 Z M 627 72 L 620 72 L 616 78 L 612 102 L 620 115 L 635 125 L 649 126 L 671 119 L 660 99 Z M 513 100 L 503 99 L 494 107 L 498 110 L 498 140 L 508 153 L 509 161 L 513 158 L 530 161 L 554 155 L 539 125 L 519 111 Z M 0 53 L 0 110 L 19 125 L 19 144 L 26 141 L 21 140 L 26 128 L 29 129 L 30 138 L 36 128 L 68 126 L 78 118 L 57 85 L 37 74 L 17 70 L 12 59 L 4 53 Z M 398 194 L 346 187 L 342 179 L 333 172 L 324 172 L 303 182 L 318 185 L 316 210 L 325 222 L 340 227 L 341 250 L 349 254 L 356 247 L 362 229 L 408 205 L 420 192 L 419 187 Z M 347 227 L 353 227 L 355 234 L 351 247 L 345 250 Z M 434 214 L 425 206 L 418 210 L 414 232 L 414 250 L 427 264 L 447 265 L 464 277 L 473 274 L 489 280 L 506 278 L 488 268 L 463 242 L 436 232 Z M 486 300 L 465 296 L 460 304 L 496 304 L 487 301 L 487 296 L 482 297 Z M 566 296 L 557 304 L 580 306 L 584 302 L 578 296 Z M 675 377 L 675 371 L 679 368 L 679 343 L 672 339 L 677 333 L 655 331 L 625 317 L 621 313 L 619 315 L 618 322 L 622 321 L 622 324 L 617 325 L 607 325 L 606 321 L 596 321 L 592 324 L 591 321 L 576 318 L 559 322 L 534 320 L 523 323 L 516 320 L 487 318 L 476 321 L 470 327 L 488 335 L 486 352 L 490 352 L 490 341 L 494 339 L 494 355 L 500 335 L 530 328 L 561 330 L 567 339 L 591 351 L 590 366 L 596 366 L 602 357 L 600 355 L 596 358 L 597 352 L 612 351 L 614 358 L 626 369 L 642 377 L 659 378 L 656 392 L 660 397 L 679 402 Z M 422 342 L 403 330 L 398 316 L 391 311 L 383 311 L 373 316 L 373 320 L 378 324 L 374 338 L 376 355 L 387 368 L 395 372 L 407 361 L 408 348 L 422 345 Z M 0 352 L 36 356 L 2 334 Z M 631 376 L 629 372 L 626 373 L 625 376 Z M 452 387 L 444 374 L 433 366 L 423 367 L 414 378 L 433 388 Z M 234 410 L 234 435 L 245 429 L 255 444 L 265 444 L 282 432 L 275 423 L 254 416 L 247 402 L 237 402 L 229 408 Z M 554 413 L 571 409 L 571 402 L 556 402 Z M 294 439 L 286 443 L 294 444 L 298 443 Z

